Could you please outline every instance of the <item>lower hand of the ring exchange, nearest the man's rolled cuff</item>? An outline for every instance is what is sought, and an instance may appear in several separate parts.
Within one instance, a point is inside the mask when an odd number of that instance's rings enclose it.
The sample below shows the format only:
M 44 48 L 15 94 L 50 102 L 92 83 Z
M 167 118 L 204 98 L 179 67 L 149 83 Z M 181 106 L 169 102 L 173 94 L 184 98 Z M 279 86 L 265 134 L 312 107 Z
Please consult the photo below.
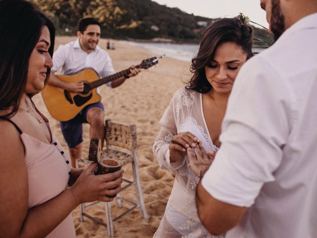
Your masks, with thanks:
M 187 154 L 189 158 L 188 167 L 192 169 L 197 177 L 203 178 L 204 174 L 209 169 L 216 152 L 211 151 L 207 153 L 204 147 L 200 145 L 193 149 L 188 148 Z

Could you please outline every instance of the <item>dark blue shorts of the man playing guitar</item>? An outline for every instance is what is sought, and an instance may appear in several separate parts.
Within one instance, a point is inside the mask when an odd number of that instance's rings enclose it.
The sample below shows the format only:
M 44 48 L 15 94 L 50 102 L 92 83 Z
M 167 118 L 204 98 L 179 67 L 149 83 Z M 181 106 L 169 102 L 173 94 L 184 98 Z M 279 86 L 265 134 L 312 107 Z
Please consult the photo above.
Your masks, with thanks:
M 86 120 L 87 112 L 91 108 L 100 108 L 105 112 L 104 105 L 101 102 L 90 104 L 81 110 L 73 119 L 60 121 L 60 128 L 67 142 L 68 148 L 74 148 L 76 145 L 83 142 L 83 123 L 88 123 Z

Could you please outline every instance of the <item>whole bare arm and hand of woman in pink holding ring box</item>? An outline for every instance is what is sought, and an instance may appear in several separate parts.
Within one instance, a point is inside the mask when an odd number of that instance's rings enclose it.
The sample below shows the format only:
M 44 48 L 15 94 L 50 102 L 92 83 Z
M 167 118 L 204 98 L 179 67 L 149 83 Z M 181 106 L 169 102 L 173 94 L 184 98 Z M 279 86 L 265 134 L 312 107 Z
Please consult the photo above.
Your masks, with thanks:
M 116 194 L 123 171 L 95 176 L 90 165 L 75 184 L 53 199 L 28 209 L 28 175 L 24 147 L 16 129 L 0 121 L 0 234 L 8 238 L 45 237 L 80 203 L 111 201 L 105 195 Z

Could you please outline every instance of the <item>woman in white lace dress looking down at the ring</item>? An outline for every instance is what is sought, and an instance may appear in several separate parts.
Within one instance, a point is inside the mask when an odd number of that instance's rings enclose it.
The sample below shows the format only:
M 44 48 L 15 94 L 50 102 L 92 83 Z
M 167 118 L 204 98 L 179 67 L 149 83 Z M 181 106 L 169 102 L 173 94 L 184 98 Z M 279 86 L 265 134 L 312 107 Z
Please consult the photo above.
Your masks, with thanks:
M 154 238 L 211 238 L 197 215 L 199 178 L 188 167 L 186 150 L 203 146 L 211 163 L 220 146 L 220 125 L 233 82 L 253 56 L 252 44 L 253 29 L 242 14 L 211 24 L 192 60 L 189 85 L 174 94 L 160 119 L 153 152 L 160 168 L 175 171 L 176 178 Z

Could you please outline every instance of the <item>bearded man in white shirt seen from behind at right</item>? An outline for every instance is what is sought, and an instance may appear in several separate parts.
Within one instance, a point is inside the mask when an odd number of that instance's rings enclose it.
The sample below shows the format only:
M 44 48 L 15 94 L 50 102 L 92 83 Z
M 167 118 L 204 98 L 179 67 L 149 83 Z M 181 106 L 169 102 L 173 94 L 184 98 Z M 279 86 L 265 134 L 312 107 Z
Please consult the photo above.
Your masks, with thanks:
M 226 238 L 315 238 L 317 0 L 261 7 L 276 42 L 239 72 L 198 213 L 211 234 L 230 230 Z M 207 160 L 199 147 L 188 155 L 193 170 Z

